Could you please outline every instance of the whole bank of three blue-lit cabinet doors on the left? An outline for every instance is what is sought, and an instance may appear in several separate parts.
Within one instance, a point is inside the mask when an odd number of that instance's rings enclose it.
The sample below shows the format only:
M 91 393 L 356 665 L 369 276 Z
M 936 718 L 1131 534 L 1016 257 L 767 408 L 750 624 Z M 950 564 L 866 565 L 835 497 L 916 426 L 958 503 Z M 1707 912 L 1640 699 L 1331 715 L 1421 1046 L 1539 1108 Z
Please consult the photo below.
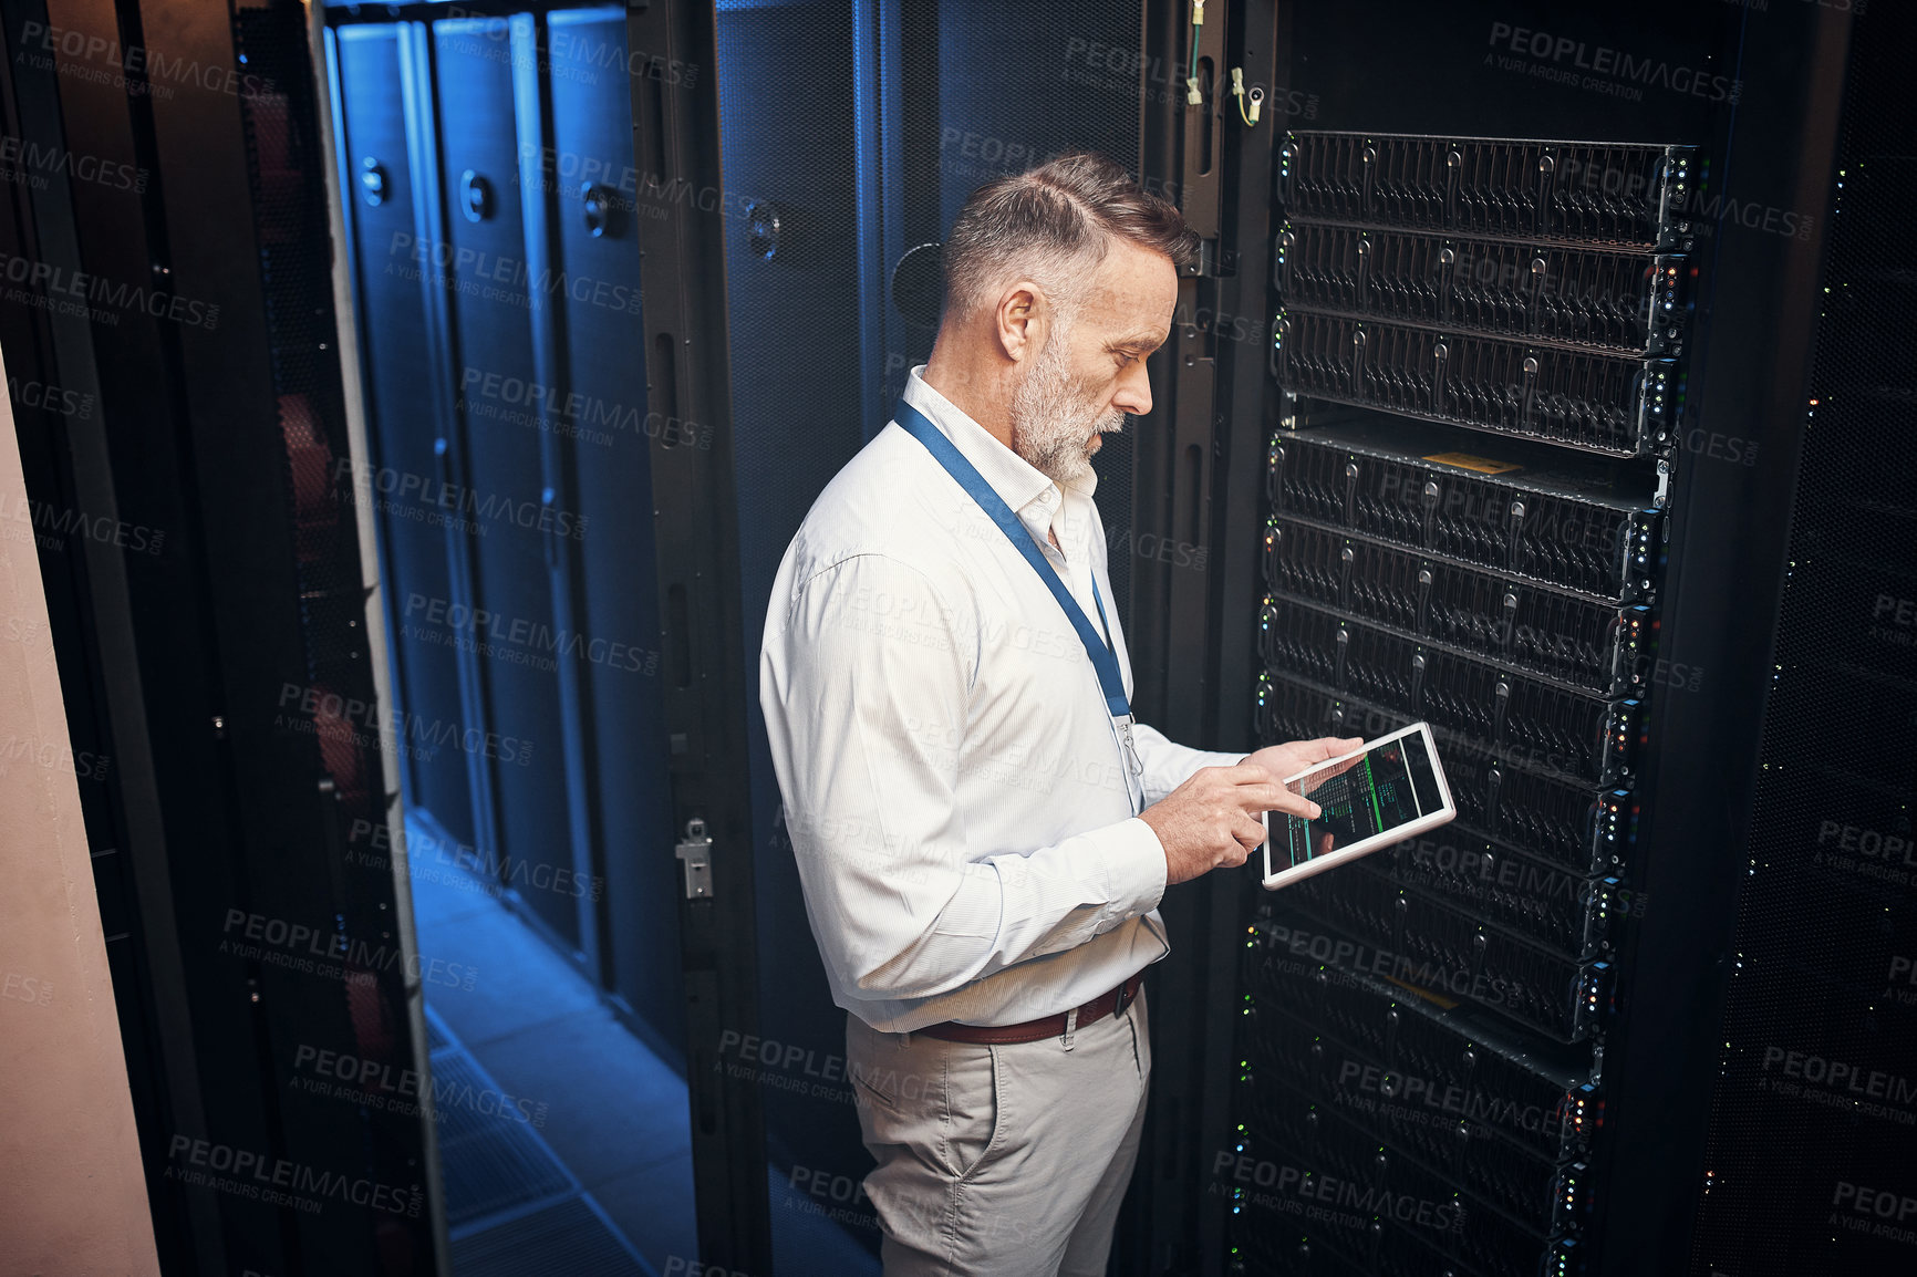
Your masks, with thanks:
M 372 451 L 339 487 L 380 527 L 414 857 L 497 880 L 679 1058 L 650 497 L 711 428 L 650 406 L 623 10 L 332 23 Z

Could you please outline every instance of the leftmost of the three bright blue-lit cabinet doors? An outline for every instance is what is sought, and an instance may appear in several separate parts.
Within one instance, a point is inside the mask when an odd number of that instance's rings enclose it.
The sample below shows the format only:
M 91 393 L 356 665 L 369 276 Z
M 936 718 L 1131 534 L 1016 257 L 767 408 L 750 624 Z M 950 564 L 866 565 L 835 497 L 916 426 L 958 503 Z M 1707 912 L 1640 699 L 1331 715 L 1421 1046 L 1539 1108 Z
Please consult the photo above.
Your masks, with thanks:
M 443 481 L 443 426 L 431 383 L 420 368 L 433 364 L 422 278 L 412 265 L 418 203 L 406 148 L 403 27 L 364 25 L 335 33 L 343 111 L 343 196 L 353 203 L 355 272 L 360 295 L 360 366 L 366 376 L 372 468 L 353 476 L 353 499 L 374 502 L 391 600 L 404 614 L 408 600 L 452 600 L 452 569 L 445 512 L 429 504 Z M 439 516 L 439 518 L 433 518 Z M 464 723 L 460 709 L 460 652 L 431 642 L 426 631 L 393 625 L 397 686 L 404 688 L 399 732 L 401 769 L 408 800 L 424 807 L 452 838 L 473 846 L 472 754 L 431 748 L 441 731 Z

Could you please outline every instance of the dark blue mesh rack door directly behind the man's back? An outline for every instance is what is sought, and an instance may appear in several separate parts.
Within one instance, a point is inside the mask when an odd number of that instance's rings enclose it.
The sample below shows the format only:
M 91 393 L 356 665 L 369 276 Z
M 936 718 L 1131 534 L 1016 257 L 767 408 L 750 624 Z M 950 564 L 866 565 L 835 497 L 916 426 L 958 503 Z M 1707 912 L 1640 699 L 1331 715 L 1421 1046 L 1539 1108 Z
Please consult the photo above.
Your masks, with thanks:
M 845 0 L 803 0 L 717 15 L 725 194 L 715 215 L 725 236 L 746 667 L 715 677 L 751 688 L 759 1030 L 809 1060 L 843 1058 L 845 1012 L 826 989 L 784 838 L 757 698 L 759 635 L 792 533 L 868 433 L 855 151 L 863 54 L 853 10 Z M 759 1076 L 774 1173 L 801 1187 L 834 1177 L 857 1183 L 865 1149 L 849 1085 L 822 1087 L 820 1099 L 794 1089 L 784 1068 L 759 1068 Z M 809 1229 L 830 1242 L 801 1241 Z M 845 1231 L 874 1244 L 870 1229 Z M 845 1246 L 857 1256 L 859 1242 L 845 1231 L 774 1204 L 778 1269 L 857 1271 L 847 1267 L 853 1258 L 832 1258 Z M 807 1250 L 817 1254 L 801 1260 Z

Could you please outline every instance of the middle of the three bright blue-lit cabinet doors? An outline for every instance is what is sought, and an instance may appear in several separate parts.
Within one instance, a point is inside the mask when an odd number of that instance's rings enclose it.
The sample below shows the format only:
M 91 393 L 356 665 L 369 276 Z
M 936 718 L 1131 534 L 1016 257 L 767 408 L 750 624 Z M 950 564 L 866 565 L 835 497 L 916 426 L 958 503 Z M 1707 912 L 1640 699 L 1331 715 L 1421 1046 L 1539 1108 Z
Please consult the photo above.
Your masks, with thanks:
M 472 545 L 472 606 L 408 600 L 404 627 L 427 642 L 477 654 L 491 750 L 493 821 L 500 882 L 567 947 L 581 943 L 579 901 L 539 890 L 575 872 L 573 813 L 566 788 L 566 713 L 560 662 L 569 660 L 554 625 L 550 564 L 554 539 L 579 529 L 573 512 L 546 497 L 541 430 L 489 385 L 543 385 L 533 360 L 533 295 L 548 280 L 529 263 L 518 192 L 520 142 L 514 111 L 516 33 L 531 19 L 445 19 L 433 23 L 445 242 L 427 268 L 452 291 L 460 385 L 454 483 Z M 523 38 L 523 36 L 520 36 Z M 441 606 L 441 602 L 445 606 Z M 481 828 L 485 821 L 479 821 Z

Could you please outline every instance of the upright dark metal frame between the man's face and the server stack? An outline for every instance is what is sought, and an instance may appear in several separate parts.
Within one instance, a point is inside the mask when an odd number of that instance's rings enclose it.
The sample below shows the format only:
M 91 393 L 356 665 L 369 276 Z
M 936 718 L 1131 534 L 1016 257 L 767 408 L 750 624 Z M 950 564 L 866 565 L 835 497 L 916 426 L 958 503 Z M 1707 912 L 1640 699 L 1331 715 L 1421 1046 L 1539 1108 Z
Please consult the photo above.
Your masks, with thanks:
M 1181 0 L 1146 4 L 1144 65 L 1189 61 L 1189 19 Z M 1256 522 L 1259 489 L 1235 476 L 1259 472 L 1263 431 L 1233 405 L 1265 395 L 1261 345 L 1240 349 L 1229 334 L 1238 316 L 1269 305 L 1271 130 L 1282 127 L 1271 102 L 1273 113 L 1246 128 L 1225 69 L 1242 67 L 1248 86 L 1269 92 L 1288 58 L 1284 31 L 1284 13 L 1267 0 L 1212 6 L 1198 27 L 1204 104 L 1144 94 L 1141 105 L 1144 180 L 1177 197 L 1206 247 L 1179 280 L 1173 336 L 1152 360 L 1156 405 L 1139 422 L 1133 525 L 1141 539 L 1192 545 L 1206 558 L 1204 571 L 1135 566 L 1133 702 L 1173 740 L 1221 750 L 1254 744 L 1244 696 L 1252 627 L 1231 623 L 1227 600 L 1258 573 L 1254 546 L 1236 529 Z M 1190 1189 L 1225 1127 L 1229 1080 L 1217 1062 L 1231 1053 L 1233 1020 L 1219 997 L 1236 986 L 1242 884 L 1208 874 L 1169 890 L 1160 911 L 1173 953 L 1150 972 L 1152 1097 L 1120 1262 L 1131 1273 L 1210 1271 L 1200 1258 L 1215 1252 L 1217 1212 Z

